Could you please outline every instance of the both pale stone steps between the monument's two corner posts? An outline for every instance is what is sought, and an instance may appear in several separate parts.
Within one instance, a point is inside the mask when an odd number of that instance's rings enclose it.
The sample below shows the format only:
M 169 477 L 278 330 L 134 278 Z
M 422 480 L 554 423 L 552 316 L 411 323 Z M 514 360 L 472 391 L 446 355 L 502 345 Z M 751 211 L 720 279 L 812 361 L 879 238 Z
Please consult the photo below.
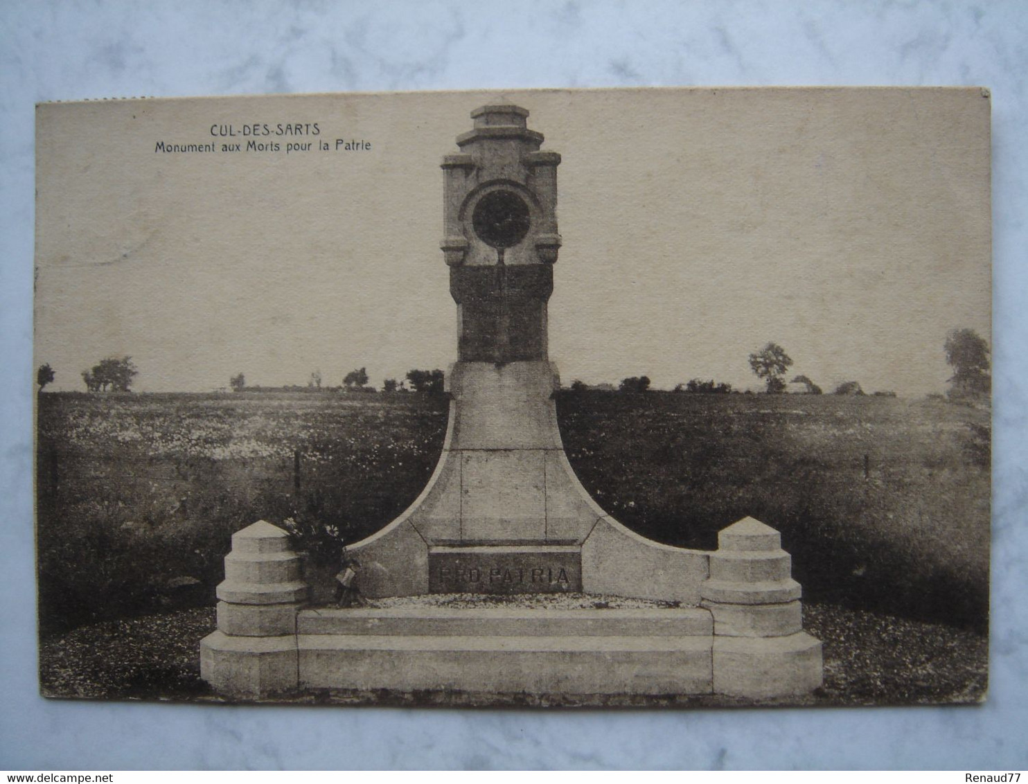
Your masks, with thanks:
M 308 688 L 709 693 L 712 631 L 697 607 L 307 609 L 299 677 Z

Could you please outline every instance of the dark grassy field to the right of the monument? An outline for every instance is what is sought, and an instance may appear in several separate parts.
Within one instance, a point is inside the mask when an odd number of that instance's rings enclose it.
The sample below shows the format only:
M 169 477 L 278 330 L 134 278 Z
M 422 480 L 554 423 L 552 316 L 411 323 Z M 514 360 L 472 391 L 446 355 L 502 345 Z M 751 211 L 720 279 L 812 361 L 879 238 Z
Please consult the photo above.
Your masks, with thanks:
M 941 400 L 567 395 L 568 458 L 644 535 L 712 549 L 777 528 L 804 596 L 984 632 L 989 412 Z

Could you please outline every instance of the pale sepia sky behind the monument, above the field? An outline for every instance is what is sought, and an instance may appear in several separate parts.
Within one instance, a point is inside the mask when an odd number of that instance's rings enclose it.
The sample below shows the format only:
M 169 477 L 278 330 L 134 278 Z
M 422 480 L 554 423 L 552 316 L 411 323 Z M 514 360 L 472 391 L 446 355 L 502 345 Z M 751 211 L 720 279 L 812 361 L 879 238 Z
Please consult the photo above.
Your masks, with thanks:
M 84 389 L 81 371 L 125 354 L 140 391 L 211 390 L 241 372 L 279 385 L 318 370 L 334 385 L 360 367 L 380 385 L 445 368 L 456 339 L 439 162 L 472 109 L 507 101 L 562 156 L 549 331 L 564 383 L 760 388 L 747 357 L 775 341 L 790 378 L 920 396 L 946 388 L 947 332 L 990 340 L 989 98 L 977 89 L 90 102 L 38 110 L 48 388 Z M 220 151 L 279 123 L 319 133 Z M 229 126 L 236 137 L 220 136 Z

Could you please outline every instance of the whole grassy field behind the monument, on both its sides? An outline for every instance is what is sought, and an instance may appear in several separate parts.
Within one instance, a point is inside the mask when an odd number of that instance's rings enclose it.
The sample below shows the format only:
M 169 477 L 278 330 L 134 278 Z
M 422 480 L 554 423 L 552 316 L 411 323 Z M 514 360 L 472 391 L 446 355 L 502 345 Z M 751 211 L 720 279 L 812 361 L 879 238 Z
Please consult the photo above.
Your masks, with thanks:
M 586 488 L 640 533 L 710 549 L 750 515 L 782 532 L 809 600 L 987 628 L 988 411 L 589 391 L 558 412 Z M 230 534 L 260 518 L 316 549 L 377 530 L 445 425 L 445 402 L 415 395 L 41 395 L 41 632 L 212 603 Z

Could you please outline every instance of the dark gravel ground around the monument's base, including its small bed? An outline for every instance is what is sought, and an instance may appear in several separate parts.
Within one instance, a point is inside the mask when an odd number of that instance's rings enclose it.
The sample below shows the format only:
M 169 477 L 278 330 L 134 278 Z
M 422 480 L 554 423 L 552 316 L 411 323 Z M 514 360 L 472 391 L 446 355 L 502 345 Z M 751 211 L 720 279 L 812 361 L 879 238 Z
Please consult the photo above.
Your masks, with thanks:
M 668 606 L 617 597 L 564 596 L 565 608 Z M 419 600 L 430 606 L 466 606 L 466 595 Z M 474 599 L 481 604 L 481 597 Z M 490 604 L 533 606 L 541 599 L 492 597 Z M 390 602 L 393 602 L 391 605 Z M 549 599 L 546 600 L 548 606 Z M 378 600 L 395 606 L 396 600 Z M 409 604 L 410 600 L 405 603 Z M 40 642 L 40 692 L 45 697 L 111 700 L 216 700 L 199 679 L 199 640 L 214 630 L 214 609 L 181 610 L 80 627 Z M 804 627 L 824 644 L 824 685 L 785 704 L 882 705 L 975 703 L 985 699 L 988 640 L 939 624 L 925 624 L 835 605 L 804 606 Z M 420 703 L 442 702 L 431 697 Z M 450 703 L 460 703 L 452 696 Z M 300 702 L 314 701 L 299 698 Z M 397 696 L 321 695 L 317 701 L 404 703 Z M 469 704 L 478 702 L 474 698 Z M 750 705 L 748 701 L 690 698 L 674 705 Z M 634 705 L 638 701 L 608 701 Z M 512 705 L 526 705 L 510 701 Z M 549 704 L 562 704 L 559 700 Z M 767 704 L 775 704 L 774 702 Z

